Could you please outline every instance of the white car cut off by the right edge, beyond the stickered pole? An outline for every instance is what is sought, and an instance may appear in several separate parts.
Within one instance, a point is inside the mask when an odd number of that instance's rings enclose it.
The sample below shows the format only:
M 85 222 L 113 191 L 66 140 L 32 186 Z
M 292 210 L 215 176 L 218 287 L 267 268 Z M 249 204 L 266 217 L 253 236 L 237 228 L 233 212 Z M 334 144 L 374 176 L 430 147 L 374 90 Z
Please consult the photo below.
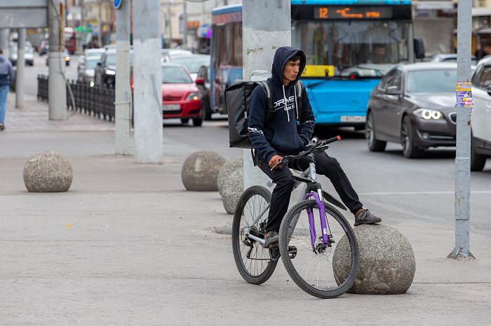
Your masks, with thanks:
M 471 171 L 491 157 L 491 56 L 480 59 L 472 77 Z

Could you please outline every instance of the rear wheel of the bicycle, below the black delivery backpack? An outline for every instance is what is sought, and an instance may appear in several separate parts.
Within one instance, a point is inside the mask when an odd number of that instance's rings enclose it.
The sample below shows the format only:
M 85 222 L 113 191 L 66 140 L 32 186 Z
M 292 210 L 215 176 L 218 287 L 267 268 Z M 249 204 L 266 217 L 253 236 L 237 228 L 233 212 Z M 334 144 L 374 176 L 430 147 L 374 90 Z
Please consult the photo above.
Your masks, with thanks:
M 245 233 L 271 201 L 271 192 L 265 187 L 253 185 L 249 187 L 241 198 L 234 213 L 232 222 L 232 251 L 238 272 L 248 283 L 262 284 L 266 282 L 274 272 L 278 259 L 271 258 L 270 250 L 262 248 L 262 245 L 253 239 L 248 239 Z M 255 224 L 256 236 L 264 239 L 266 233 L 268 211 Z

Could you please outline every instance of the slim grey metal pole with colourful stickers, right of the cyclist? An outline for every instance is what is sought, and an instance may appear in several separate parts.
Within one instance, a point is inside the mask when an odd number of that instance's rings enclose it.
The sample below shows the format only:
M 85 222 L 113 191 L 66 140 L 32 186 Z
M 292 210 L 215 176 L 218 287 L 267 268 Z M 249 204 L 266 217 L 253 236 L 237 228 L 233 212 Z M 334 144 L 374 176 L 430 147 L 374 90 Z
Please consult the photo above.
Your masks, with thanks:
M 459 0 L 457 10 L 457 150 L 455 155 L 455 248 L 449 258 L 473 259 L 470 247 L 471 108 L 464 102 L 471 89 L 472 0 Z M 460 87 L 463 86 L 463 87 Z M 464 99 L 466 98 L 466 99 Z M 462 101 L 462 99 L 464 99 Z

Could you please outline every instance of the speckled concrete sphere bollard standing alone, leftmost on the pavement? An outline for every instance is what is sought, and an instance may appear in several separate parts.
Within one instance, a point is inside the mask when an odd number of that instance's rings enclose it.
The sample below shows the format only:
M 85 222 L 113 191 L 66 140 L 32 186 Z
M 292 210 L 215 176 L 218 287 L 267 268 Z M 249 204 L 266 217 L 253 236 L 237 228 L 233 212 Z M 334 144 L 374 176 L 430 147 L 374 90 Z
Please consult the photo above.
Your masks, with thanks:
M 72 185 L 73 170 L 65 156 L 45 150 L 26 162 L 23 177 L 29 192 L 62 192 Z

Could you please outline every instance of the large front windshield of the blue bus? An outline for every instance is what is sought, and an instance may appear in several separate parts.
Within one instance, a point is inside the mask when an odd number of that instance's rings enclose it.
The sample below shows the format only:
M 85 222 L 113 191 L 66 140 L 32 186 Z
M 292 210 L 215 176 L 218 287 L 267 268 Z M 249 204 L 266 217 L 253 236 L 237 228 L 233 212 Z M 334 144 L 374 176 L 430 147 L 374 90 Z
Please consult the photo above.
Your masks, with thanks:
M 328 76 L 343 76 L 354 66 L 361 76 L 377 76 L 409 62 L 409 22 L 292 21 L 292 46 L 307 55 L 308 66 L 330 66 Z M 308 73 L 307 73 L 308 76 Z

